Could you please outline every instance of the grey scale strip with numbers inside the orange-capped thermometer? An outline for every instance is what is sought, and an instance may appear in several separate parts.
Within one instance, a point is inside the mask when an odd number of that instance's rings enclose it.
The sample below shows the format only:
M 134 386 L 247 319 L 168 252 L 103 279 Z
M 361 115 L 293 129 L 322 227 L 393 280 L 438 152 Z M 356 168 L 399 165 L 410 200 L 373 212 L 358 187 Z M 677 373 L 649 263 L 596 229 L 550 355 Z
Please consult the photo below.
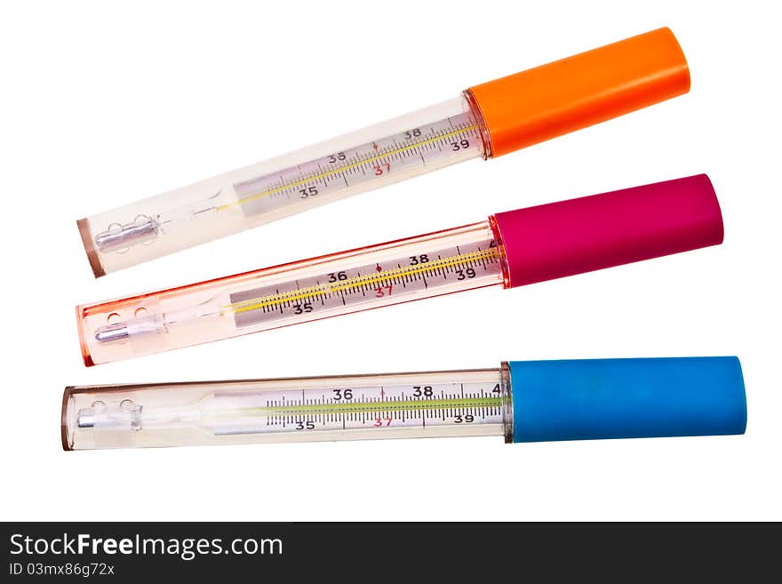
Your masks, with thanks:
M 421 140 L 413 140 L 414 137 Z M 453 116 L 238 183 L 234 186 L 237 200 L 222 204 L 215 210 L 219 212 L 241 205 L 245 215 L 267 212 L 280 203 L 289 202 L 294 195 L 300 199 L 323 195 L 325 191 L 320 191 L 318 184 L 322 184 L 324 189 L 332 186 L 350 188 L 393 172 L 392 162 L 405 167 L 426 166 L 427 162 L 441 156 L 459 156 L 466 149 L 482 148 L 480 140 L 478 126 L 469 113 Z M 339 166 L 335 167 L 336 163 L 340 163 Z

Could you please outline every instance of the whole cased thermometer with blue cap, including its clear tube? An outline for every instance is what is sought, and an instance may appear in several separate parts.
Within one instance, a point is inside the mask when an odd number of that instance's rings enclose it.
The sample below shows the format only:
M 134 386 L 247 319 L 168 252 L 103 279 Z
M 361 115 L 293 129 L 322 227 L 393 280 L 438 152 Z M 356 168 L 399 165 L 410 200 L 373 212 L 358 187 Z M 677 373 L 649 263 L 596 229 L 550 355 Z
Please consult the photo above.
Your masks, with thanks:
M 378 438 L 507 443 L 741 434 L 736 357 L 66 388 L 65 450 Z

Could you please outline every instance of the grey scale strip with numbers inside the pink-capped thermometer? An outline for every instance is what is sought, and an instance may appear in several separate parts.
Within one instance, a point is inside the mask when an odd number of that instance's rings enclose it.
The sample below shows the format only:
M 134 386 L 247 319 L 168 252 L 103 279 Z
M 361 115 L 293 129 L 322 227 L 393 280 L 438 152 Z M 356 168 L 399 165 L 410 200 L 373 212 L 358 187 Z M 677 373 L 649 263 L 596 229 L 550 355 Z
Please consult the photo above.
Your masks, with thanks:
M 494 245 L 493 241 L 486 241 L 383 262 L 395 266 L 388 270 L 379 264 L 371 264 L 233 292 L 229 295 L 230 304 L 222 307 L 222 312 L 232 314 L 236 326 L 250 326 L 280 316 L 296 316 L 388 296 L 402 296 L 477 276 L 499 276 L 502 268 L 499 251 Z M 403 261 L 408 265 L 404 266 Z M 479 274 L 481 270 L 483 273 Z M 395 286 L 402 286 L 402 290 L 395 291 Z

